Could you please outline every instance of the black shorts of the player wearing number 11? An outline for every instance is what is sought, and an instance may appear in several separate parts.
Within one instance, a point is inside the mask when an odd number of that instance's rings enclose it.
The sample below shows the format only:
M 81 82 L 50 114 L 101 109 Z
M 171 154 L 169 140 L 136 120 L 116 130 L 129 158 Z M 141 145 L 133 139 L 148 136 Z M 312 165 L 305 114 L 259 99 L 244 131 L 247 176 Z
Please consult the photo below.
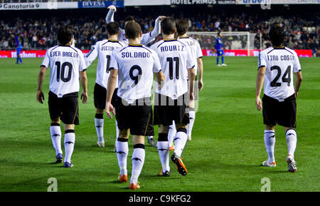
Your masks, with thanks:
M 173 100 L 168 96 L 159 93 L 154 95 L 154 125 L 172 125 L 172 120 L 176 124 L 189 123 L 189 114 L 187 110 L 188 93 L 179 96 Z

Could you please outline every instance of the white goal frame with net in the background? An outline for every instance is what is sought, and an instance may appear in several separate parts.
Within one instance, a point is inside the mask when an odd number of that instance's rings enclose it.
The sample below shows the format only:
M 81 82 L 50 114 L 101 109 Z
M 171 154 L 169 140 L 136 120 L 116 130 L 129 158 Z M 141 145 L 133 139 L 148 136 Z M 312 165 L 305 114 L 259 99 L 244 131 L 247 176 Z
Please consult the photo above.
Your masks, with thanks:
M 247 50 L 247 56 L 249 56 L 250 50 L 262 48 L 262 39 L 259 34 L 249 31 L 222 31 L 221 34 L 221 41 L 226 49 Z M 196 39 L 202 49 L 212 49 L 218 32 L 189 31 L 188 36 Z

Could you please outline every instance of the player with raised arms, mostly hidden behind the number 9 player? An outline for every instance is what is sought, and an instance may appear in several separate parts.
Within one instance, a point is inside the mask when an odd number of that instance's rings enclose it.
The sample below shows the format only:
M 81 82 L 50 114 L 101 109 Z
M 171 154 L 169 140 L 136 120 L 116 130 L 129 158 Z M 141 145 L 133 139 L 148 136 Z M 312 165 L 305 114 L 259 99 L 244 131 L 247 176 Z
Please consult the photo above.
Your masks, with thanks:
M 112 21 L 114 21 L 114 12 L 117 11 L 117 8 L 115 6 L 109 6 L 107 9 L 110 9 L 107 13 L 107 16 L 105 17 L 105 20 L 107 21 L 107 23 L 110 23 Z M 156 18 L 156 24 L 154 25 L 154 30 L 150 31 L 149 33 L 146 34 L 142 34 L 142 38 L 141 38 L 141 43 L 146 46 L 148 43 L 150 43 L 151 41 L 154 41 L 154 39 L 156 38 L 156 36 L 158 36 L 160 34 L 160 22 L 162 19 L 164 19 L 164 17 L 166 16 L 159 16 L 158 18 Z M 124 25 L 126 25 L 129 21 L 135 21 L 133 16 L 127 16 L 127 18 L 124 20 Z M 123 41 L 125 43 L 128 42 L 126 36 L 125 36 L 125 31 L 124 29 L 119 29 L 119 35 L 118 35 L 118 39 L 119 41 Z M 148 136 L 148 143 L 156 148 L 156 141 L 154 140 L 154 138 L 152 136 Z

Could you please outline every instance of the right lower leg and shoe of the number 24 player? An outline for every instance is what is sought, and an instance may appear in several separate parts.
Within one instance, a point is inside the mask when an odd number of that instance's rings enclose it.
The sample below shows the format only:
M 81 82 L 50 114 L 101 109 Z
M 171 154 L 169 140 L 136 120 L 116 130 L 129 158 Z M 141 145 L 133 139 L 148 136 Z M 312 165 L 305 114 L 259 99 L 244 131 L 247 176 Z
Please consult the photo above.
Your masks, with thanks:
M 284 127 L 286 132 L 286 140 L 288 145 L 288 156 L 287 156 L 287 163 L 288 163 L 288 172 L 296 172 L 297 166 L 296 162 L 294 161 L 294 151 L 297 147 L 297 133 L 294 128 L 287 128 Z

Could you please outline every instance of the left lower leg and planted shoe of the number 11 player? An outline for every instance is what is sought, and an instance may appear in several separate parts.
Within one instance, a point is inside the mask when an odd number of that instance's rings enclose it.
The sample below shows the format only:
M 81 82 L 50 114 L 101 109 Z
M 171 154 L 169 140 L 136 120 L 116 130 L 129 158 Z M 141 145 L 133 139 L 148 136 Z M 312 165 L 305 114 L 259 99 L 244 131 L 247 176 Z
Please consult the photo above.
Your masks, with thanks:
M 159 175 L 165 177 L 169 177 L 170 175 L 168 131 L 169 126 L 159 125 L 157 148 L 162 166 L 162 170 Z

